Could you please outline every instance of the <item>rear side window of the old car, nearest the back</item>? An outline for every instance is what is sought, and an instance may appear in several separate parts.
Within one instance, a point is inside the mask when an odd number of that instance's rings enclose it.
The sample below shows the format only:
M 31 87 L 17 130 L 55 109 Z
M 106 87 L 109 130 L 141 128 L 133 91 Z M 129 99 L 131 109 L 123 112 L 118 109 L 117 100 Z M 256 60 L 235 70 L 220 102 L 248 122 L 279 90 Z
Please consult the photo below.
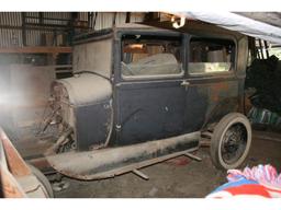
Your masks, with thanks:
M 190 39 L 189 74 L 218 73 L 233 70 L 235 43 L 231 39 Z

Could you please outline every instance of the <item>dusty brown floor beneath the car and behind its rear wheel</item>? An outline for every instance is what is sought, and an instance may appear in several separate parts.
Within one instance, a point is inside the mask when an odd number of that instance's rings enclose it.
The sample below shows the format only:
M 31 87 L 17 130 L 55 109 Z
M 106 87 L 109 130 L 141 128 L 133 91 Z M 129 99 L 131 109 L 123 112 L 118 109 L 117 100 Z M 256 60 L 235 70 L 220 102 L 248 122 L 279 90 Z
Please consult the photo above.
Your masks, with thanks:
M 255 132 L 249 158 L 245 165 L 267 164 L 281 167 L 281 135 Z M 55 192 L 58 198 L 200 198 L 205 197 L 226 182 L 226 172 L 217 171 L 209 156 L 209 149 L 196 153 L 202 162 L 179 158 L 159 163 L 142 172 L 149 176 L 144 180 L 128 173 L 103 180 L 81 182 L 64 177 L 69 187 Z M 188 163 L 187 163 L 188 162 Z M 184 164 L 186 163 L 186 164 Z

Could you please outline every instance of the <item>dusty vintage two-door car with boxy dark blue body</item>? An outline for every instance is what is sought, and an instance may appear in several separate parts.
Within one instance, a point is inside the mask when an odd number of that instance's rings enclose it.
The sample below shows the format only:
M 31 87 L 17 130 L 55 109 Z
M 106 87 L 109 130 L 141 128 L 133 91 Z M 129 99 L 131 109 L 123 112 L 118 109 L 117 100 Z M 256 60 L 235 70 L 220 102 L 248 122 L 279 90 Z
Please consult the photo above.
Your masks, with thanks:
M 136 172 L 192 156 L 202 137 L 218 168 L 245 161 L 245 35 L 198 23 L 125 24 L 75 44 L 75 75 L 52 86 L 60 137 L 46 158 L 56 171 L 79 179 Z

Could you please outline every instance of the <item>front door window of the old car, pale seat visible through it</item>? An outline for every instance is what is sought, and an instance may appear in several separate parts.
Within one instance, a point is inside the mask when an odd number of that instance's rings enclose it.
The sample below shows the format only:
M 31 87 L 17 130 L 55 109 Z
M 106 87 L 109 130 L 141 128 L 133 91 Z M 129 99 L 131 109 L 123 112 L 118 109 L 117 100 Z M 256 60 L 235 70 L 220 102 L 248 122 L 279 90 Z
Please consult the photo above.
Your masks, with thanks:
M 122 75 L 182 73 L 181 37 L 156 35 L 122 36 Z

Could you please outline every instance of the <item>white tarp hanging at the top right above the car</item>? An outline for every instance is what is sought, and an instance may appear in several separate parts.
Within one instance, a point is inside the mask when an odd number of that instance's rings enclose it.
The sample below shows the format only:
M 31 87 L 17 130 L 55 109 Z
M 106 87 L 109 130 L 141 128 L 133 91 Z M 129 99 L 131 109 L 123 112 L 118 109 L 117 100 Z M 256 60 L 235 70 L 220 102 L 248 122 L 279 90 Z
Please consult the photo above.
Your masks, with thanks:
M 267 23 L 255 21 L 232 12 L 178 12 L 173 13 L 187 19 L 196 19 L 203 22 L 215 24 L 231 31 L 281 44 L 281 28 Z

